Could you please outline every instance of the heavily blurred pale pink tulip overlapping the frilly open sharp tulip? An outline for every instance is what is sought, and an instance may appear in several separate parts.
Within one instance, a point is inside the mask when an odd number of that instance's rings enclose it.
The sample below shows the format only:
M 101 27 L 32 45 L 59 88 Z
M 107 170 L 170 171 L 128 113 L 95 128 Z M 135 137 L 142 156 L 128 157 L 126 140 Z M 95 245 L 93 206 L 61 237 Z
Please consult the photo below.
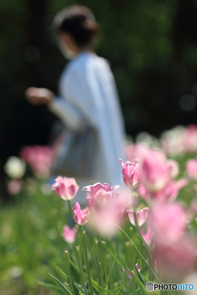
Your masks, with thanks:
M 102 235 L 112 236 L 121 227 L 122 219 L 125 217 L 126 209 L 131 202 L 128 192 L 122 191 L 105 206 L 96 208 L 92 217 L 92 222 L 98 232 Z

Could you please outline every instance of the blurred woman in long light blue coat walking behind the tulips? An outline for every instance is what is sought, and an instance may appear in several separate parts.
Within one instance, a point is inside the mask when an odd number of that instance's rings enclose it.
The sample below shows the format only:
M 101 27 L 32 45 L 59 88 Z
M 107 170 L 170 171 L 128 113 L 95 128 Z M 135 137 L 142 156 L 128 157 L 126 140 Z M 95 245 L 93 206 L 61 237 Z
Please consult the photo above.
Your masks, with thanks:
M 91 182 L 121 185 L 124 123 L 108 62 L 92 50 L 98 25 L 92 12 L 80 5 L 60 11 L 54 30 L 66 65 L 59 83 L 60 97 L 48 89 L 26 90 L 30 103 L 48 104 L 64 123 L 53 171 L 75 177 L 82 189 Z M 74 201 L 83 201 L 84 192 Z

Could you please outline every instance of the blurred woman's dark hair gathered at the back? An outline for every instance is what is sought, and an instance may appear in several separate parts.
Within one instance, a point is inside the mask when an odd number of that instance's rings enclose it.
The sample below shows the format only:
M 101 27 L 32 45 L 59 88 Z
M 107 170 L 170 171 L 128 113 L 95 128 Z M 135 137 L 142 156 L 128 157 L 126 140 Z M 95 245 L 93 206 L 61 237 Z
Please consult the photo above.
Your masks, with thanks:
M 53 21 L 56 34 L 67 32 L 77 45 L 90 44 L 98 32 L 98 25 L 90 9 L 81 5 L 69 6 L 58 12 Z

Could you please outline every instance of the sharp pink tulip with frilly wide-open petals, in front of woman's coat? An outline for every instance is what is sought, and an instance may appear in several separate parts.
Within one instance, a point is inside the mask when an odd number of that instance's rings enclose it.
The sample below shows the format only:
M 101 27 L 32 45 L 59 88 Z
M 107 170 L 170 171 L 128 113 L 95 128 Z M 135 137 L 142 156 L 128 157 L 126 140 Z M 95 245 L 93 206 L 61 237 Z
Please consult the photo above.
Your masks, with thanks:
M 119 186 L 110 187 L 108 183 L 101 184 L 100 182 L 94 185 L 84 186 L 82 191 L 88 191 L 91 197 L 87 197 L 91 207 L 105 206 L 113 196 L 113 190 L 118 189 Z

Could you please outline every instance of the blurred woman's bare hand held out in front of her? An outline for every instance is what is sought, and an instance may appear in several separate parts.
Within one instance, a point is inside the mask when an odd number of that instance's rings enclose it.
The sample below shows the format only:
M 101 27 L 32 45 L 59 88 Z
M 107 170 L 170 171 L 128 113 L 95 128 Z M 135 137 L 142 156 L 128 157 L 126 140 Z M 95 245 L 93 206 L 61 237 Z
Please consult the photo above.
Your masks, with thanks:
M 25 90 L 25 96 L 30 104 L 49 104 L 54 99 L 54 93 L 46 88 L 30 87 Z

